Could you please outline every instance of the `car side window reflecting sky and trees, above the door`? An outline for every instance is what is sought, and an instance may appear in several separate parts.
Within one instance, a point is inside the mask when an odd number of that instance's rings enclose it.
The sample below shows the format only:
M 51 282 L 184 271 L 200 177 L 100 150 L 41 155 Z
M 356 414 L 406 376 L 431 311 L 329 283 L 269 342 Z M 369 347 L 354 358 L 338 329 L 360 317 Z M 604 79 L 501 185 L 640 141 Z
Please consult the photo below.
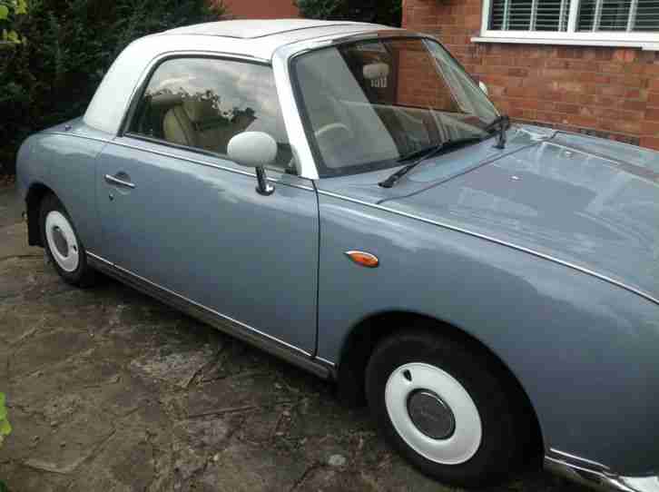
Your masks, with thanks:
M 292 172 L 270 66 L 217 58 L 172 58 L 153 72 L 129 133 L 226 156 L 242 132 L 269 133 L 278 144 L 275 166 Z

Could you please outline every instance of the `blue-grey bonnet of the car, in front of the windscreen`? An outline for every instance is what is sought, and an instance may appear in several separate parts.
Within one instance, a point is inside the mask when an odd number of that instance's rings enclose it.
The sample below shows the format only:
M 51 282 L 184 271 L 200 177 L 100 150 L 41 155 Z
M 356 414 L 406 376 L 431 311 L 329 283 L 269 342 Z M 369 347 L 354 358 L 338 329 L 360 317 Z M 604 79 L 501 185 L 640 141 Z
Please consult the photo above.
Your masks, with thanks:
M 536 143 L 384 203 L 568 261 L 659 300 L 659 181 L 650 168 L 578 150 L 569 135 L 559 142 Z

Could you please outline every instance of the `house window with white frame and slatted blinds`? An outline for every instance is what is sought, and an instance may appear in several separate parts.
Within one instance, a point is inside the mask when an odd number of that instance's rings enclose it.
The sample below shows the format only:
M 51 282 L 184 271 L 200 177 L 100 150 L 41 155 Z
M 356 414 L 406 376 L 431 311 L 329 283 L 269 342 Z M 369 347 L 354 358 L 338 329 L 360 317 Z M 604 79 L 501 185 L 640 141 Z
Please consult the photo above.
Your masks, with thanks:
M 659 50 L 659 0 L 483 0 L 475 42 L 638 46 Z

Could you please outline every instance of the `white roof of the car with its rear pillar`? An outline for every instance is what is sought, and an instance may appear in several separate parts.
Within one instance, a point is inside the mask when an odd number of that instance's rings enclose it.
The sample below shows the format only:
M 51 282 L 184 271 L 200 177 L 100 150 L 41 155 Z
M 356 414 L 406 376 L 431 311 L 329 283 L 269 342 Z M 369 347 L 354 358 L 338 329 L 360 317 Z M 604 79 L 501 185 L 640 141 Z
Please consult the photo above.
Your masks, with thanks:
M 114 61 L 84 113 L 84 122 L 103 132 L 118 133 L 133 91 L 153 59 L 162 54 L 240 54 L 270 61 L 284 45 L 391 29 L 347 21 L 279 19 L 211 22 L 148 35 L 129 44 Z

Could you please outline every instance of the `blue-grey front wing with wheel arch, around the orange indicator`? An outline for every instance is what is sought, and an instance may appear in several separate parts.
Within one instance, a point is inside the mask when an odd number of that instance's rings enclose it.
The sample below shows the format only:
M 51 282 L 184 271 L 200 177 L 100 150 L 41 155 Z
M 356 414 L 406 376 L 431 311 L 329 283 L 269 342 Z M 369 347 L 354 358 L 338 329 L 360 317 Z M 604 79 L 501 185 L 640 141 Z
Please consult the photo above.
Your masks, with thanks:
M 631 474 L 656 467 L 654 303 L 554 261 L 319 193 L 321 358 L 340 363 L 341 328 L 373 314 L 442 320 L 507 364 L 547 447 Z M 376 255 L 379 267 L 359 267 L 349 250 Z

